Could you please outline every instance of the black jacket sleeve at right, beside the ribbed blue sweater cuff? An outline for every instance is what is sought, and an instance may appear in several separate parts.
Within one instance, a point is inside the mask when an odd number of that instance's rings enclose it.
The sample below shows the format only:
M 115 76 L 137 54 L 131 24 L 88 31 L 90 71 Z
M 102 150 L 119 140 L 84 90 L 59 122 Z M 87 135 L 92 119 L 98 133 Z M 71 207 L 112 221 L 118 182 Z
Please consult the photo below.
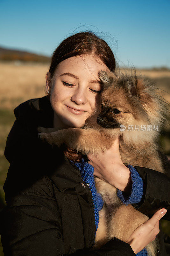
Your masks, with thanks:
M 166 174 L 145 167 L 135 166 L 143 180 L 143 196 L 139 203 L 132 204 L 135 209 L 151 217 L 161 208 L 167 212 L 162 217 L 170 220 L 170 161 L 167 160 Z

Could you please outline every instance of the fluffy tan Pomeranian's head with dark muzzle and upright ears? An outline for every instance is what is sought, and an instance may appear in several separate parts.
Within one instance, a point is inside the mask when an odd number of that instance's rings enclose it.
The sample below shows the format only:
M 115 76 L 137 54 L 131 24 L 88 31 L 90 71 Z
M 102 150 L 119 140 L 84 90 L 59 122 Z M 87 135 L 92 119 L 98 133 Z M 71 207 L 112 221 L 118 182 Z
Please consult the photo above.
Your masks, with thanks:
M 149 124 L 147 104 L 151 104 L 151 96 L 143 93 L 142 81 L 136 76 L 116 76 L 112 72 L 99 72 L 103 84 L 101 94 L 101 112 L 97 123 L 104 128 L 119 128 L 138 123 Z M 143 94 L 142 94 L 143 93 Z

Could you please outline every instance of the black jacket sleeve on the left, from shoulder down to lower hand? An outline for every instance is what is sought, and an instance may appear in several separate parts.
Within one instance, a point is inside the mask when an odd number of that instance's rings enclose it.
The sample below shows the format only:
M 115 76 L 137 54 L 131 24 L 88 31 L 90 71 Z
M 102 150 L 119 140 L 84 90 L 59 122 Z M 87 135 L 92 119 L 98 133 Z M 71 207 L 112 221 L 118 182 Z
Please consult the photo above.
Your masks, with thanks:
M 14 122 L 5 148 L 5 156 L 11 165 L 4 184 L 7 205 L 0 212 L 4 255 L 65 255 L 60 211 L 48 187 L 48 177 L 43 174 L 46 170 L 50 172 L 49 164 L 55 155 L 51 155 L 51 146 L 44 147 L 36 136 L 24 132 L 24 125 L 18 120 Z M 77 252 L 75 249 L 73 255 L 124 256 L 127 252 L 129 256 L 135 256 L 129 244 L 111 240 L 96 252 L 90 248 Z

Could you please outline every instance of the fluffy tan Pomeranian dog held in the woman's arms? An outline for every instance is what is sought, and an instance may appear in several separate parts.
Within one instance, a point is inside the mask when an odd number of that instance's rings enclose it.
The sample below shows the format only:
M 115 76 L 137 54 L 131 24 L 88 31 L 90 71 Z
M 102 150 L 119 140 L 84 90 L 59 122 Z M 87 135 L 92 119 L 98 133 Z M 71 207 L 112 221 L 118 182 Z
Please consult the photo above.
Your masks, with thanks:
M 97 156 L 109 149 L 119 137 L 119 151 L 125 165 L 164 172 L 158 141 L 161 127 L 166 124 L 166 101 L 154 84 L 143 76 L 100 71 L 99 78 L 103 86 L 101 109 L 96 110 L 81 128 L 57 131 L 55 128 L 38 127 L 40 139 L 58 147 L 65 144 L 77 152 Z M 117 188 L 109 182 L 95 177 L 95 185 L 104 205 L 99 212 L 94 247 L 99 248 L 114 237 L 127 242 L 132 232 L 149 217 L 131 204 L 123 204 L 117 197 Z M 146 249 L 150 256 L 156 256 L 156 241 L 149 243 Z

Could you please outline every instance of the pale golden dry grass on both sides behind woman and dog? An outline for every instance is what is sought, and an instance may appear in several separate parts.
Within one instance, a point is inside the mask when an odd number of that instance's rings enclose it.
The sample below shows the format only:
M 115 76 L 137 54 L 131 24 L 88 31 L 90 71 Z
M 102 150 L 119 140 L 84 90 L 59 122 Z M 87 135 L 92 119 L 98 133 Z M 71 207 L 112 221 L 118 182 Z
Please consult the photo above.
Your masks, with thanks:
M 25 100 L 44 96 L 48 68 L 47 64 L 0 62 L 0 108 L 12 109 Z M 121 69 L 121 71 L 127 70 Z M 170 70 L 136 70 L 136 74 L 157 80 L 157 86 L 166 91 L 162 96 L 170 102 Z M 161 81 L 159 84 L 160 80 L 167 80 L 168 83 Z

